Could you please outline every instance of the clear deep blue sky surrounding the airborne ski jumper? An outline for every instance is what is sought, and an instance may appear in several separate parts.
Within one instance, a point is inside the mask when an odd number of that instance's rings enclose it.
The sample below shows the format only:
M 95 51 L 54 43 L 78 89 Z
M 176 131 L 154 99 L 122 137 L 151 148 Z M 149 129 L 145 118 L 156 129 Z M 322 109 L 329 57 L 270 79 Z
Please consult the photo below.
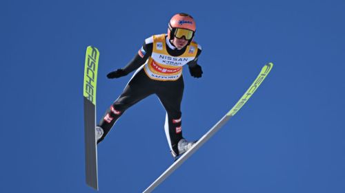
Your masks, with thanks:
M 253 98 L 155 192 L 345 192 L 345 1 L 1 1 L 0 192 L 85 183 L 83 66 L 101 53 L 97 121 L 130 76 L 108 80 L 170 17 L 197 21 L 204 76 L 184 69 L 184 136 L 198 139 L 265 63 Z M 99 146 L 99 192 L 141 192 L 170 164 L 155 96 Z

